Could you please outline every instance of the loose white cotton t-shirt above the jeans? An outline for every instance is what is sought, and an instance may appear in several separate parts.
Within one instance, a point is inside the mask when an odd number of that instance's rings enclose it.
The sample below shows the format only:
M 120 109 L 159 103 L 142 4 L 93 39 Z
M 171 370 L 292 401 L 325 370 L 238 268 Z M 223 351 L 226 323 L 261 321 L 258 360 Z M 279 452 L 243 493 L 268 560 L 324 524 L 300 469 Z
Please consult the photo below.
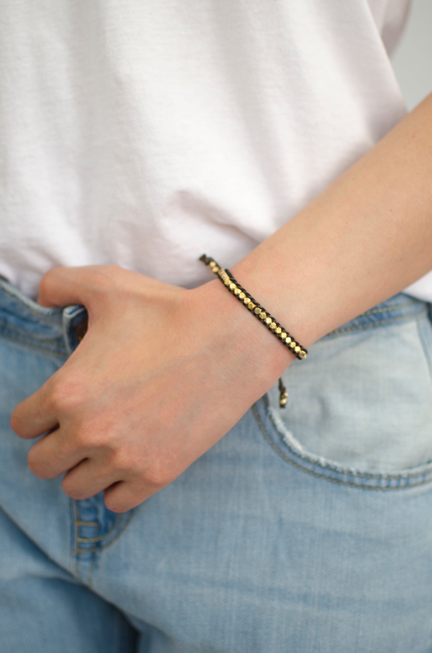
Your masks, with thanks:
M 234 264 L 405 116 L 408 4 L 2 0 L 0 274 Z

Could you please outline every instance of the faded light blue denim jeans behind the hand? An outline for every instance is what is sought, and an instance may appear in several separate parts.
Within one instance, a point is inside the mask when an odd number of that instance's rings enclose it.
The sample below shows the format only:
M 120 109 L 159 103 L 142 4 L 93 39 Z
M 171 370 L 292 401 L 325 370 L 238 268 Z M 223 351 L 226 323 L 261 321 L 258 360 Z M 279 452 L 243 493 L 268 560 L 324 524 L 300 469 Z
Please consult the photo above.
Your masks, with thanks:
M 85 308 L 0 281 L 1 653 L 431 652 L 430 309 L 400 294 L 328 334 L 285 410 L 271 389 L 117 515 L 33 475 L 9 424 Z

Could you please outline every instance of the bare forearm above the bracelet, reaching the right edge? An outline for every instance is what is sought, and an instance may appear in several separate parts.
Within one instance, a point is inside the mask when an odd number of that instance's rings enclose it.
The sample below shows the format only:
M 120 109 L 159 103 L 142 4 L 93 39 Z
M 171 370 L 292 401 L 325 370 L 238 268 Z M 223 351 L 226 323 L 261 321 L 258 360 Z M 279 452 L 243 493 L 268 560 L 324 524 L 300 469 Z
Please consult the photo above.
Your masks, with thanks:
M 307 347 L 432 268 L 431 172 L 432 95 L 230 270 Z

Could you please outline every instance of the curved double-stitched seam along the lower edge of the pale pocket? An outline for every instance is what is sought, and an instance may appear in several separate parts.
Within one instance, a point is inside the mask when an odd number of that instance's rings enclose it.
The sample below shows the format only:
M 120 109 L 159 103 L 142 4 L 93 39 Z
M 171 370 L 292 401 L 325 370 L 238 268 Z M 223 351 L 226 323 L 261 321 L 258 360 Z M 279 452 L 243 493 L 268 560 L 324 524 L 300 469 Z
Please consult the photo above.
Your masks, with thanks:
M 256 422 L 258 422 L 258 426 L 260 427 L 260 430 L 261 430 L 262 434 L 264 435 L 264 438 L 266 438 L 268 443 L 271 445 L 272 449 L 274 449 L 274 451 L 277 454 L 279 454 L 279 456 L 281 456 L 281 458 L 283 458 L 283 460 L 288 462 L 290 465 L 296 467 L 298 470 L 305 471 L 306 473 L 308 473 L 308 474 L 310 474 L 312 476 L 315 476 L 318 479 L 323 479 L 324 481 L 332 481 L 332 483 L 338 483 L 339 485 L 347 485 L 347 486 L 352 487 L 352 488 L 358 488 L 359 490 L 407 490 L 409 488 L 418 487 L 420 485 L 426 485 L 427 483 L 432 482 L 432 477 L 431 477 L 431 478 L 425 479 L 424 481 L 420 481 L 419 483 L 410 483 L 409 485 L 399 486 L 399 487 L 368 486 L 368 485 L 362 485 L 361 483 L 349 483 L 348 481 L 342 481 L 341 479 L 332 479 L 332 478 L 330 478 L 328 476 L 325 476 L 324 474 L 320 474 L 320 473 L 318 473 L 316 471 L 313 471 L 313 470 L 308 470 L 307 468 L 302 467 L 300 464 L 294 462 L 294 460 L 291 460 L 290 458 L 288 458 L 288 456 L 285 456 L 285 454 L 282 451 L 280 451 L 280 449 L 278 449 L 278 447 L 271 441 L 271 438 L 268 435 L 264 424 L 262 424 L 262 421 L 260 420 L 260 417 L 259 417 L 258 412 L 256 410 L 255 404 L 252 406 L 252 410 L 253 410 L 253 414 L 255 416 Z M 268 417 L 270 417 L 270 420 L 271 420 L 270 413 L 267 413 L 267 415 L 268 415 Z M 271 423 L 273 424 L 273 426 L 275 426 L 273 420 L 271 420 Z M 278 436 L 281 437 L 281 434 L 279 434 L 279 430 L 277 430 L 276 426 L 275 426 L 275 429 L 276 429 L 276 432 L 277 432 Z M 294 453 L 299 458 L 302 458 L 303 460 L 305 460 L 305 462 L 309 462 L 310 464 L 313 464 L 313 465 L 315 465 L 317 467 L 322 467 L 322 469 L 328 469 L 328 470 L 333 471 L 334 473 L 337 473 L 337 474 L 345 473 L 346 475 L 350 475 L 350 476 L 353 476 L 353 477 L 360 477 L 360 478 L 366 477 L 366 478 L 371 478 L 371 479 L 376 478 L 376 479 L 381 479 L 383 481 L 385 481 L 385 480 L 392 480 L 392 481 L 404 480 L 405 481 L 405 480 L 409 480 L 411 478 L 416 478 L 418 476 L 424 476 L 425 474 L 430 473 L 430 470 L 425 470 L 422 473 L 415 473 L 415 474 L 412 474 L 412 475 L 384 476 L 384 475 L 368 475 L 368 474 L 360 474 L 360 473 L 357 474 L 357 473 L 353 473 L 353 472 L 349 472 L 349 471 L 343 472 L 343 471 L 339 471 L 336 468 L 333 468 L 331 466 L 324 467 L 324 466 L 320 465 L 318 462 L 316 462 L 315 460 L 309 460 L 305 456 L 302 456 L 300 453 L 298 453 L 298 452 L 294 451 L 293 449 L 291 449 L 291 447 L 288 444 L 286 444 L 285 441 L 283 441 L 283 442 L 284 442 L 285 446 L 288 447 L 288 449 L 290 449 L 290 451 L 292 451 L 292 453 Z

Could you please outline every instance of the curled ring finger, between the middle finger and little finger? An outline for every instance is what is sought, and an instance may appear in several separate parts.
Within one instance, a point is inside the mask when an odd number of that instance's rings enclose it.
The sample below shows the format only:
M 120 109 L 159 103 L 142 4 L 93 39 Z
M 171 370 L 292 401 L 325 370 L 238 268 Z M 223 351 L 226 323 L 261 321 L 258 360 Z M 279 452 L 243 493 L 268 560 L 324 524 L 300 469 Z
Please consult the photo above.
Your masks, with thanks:
M 102 460 L 86 458 L 67 472 L 61 487 L 72 499 L 82 500 L 95 496 L 116 481 L 119 481 L 118 471 L 110 470 Z

